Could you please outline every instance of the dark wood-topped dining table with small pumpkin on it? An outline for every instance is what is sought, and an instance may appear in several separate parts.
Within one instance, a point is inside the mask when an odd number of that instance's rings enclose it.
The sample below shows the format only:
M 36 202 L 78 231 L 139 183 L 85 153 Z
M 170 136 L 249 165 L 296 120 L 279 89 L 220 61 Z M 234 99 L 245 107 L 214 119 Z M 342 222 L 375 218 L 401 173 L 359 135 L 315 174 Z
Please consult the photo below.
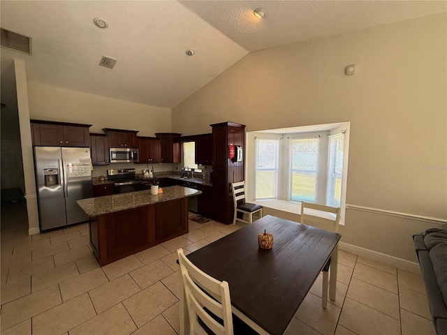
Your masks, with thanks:
M 258 233 L 264 230 L 273 234 L 270 250 L 258 247 Z M 335 232 L 264 216 L 186 257 L 210 276 L 228 282 L 235 315 L 260 334 L 279 335 L 284 334 L 337 250 L 340 237 Z M 331 267 L 337 267 L 336 262 Z M 335 285 L 330 290 L 335 296 Z M 184 299 L 180 303 L 184 304 Z M 188 334 L 186 306 L 182 306 L 181 332 Z

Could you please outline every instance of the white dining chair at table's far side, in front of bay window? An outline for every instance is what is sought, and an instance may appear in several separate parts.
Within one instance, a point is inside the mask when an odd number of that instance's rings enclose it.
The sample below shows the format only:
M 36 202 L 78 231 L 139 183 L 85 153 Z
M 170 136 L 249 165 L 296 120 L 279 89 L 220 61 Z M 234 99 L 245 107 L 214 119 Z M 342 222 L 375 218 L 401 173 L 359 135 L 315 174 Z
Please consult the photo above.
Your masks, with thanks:
M 338 225 L 340 221 L 340 207 L 330 207 L 324 204 L 312 204 L 310 202 L 301 202 L 301 218 L 300 223 L 305 223 L 305 220 L 314 221 L 316 223 L 323 223 L 323 229 L 330 232 L 338 232 Z M 329 278 L 329 266 L 333 262 L 335 266 L 331 267 Z M 321 304 L 323 308 L 328 306 L 328 287 L 337 287 L 337 262 L 338 262 L 338 244 L 330 257 L 330 261 L 323 267 L 323 292 L 321 297 Z M 335 300 L 335 290 L 330 295 L 331 300 Z

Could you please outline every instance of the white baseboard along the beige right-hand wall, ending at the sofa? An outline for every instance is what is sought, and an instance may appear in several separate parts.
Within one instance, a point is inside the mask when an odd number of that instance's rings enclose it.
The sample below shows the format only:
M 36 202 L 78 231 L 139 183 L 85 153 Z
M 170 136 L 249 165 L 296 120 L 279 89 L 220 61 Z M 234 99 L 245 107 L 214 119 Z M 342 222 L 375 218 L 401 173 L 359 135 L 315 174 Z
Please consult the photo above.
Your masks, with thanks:
M 379 253 L 377 251 L 362 248 L 360 246 L 354 246 L 353 244 L 347 244 L 344 242 L 339 242 L 339 249 L 348 253 L 353 253 L 354 255 L 393 265 L 393 267 L 397 267 L 397 269 L 409 271 L 413 274 L 421 274 L 419 263 L 416 262 L 411 262 L 402 258 L 386 255 L 386 253 Z

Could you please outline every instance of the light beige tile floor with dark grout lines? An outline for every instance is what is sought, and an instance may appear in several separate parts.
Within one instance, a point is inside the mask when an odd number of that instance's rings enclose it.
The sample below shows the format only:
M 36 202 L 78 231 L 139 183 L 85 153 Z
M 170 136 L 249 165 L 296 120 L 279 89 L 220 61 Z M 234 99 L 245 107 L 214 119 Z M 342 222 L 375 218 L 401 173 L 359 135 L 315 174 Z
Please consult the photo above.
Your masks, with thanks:
M 243 224 L 242 224 L 243 225 Z M 177 255 L 242 225 L 189 221 L 189 233 L 105 267 L 86 223 L 28 236 L 24 202 L 1 207 L 1 334 L 178 334 Z M 337 297 L 319 276 L 286 334 L 435 334 L 423 279 L 340 251 Z

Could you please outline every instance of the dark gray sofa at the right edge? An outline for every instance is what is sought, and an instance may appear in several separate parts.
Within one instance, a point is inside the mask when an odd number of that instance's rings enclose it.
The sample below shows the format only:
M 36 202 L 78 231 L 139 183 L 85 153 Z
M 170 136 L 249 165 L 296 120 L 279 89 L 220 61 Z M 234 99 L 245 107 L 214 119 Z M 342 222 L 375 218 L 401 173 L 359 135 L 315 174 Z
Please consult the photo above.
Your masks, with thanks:
M 447 225 L 413 235 L 434 329 L 447 335 Z

